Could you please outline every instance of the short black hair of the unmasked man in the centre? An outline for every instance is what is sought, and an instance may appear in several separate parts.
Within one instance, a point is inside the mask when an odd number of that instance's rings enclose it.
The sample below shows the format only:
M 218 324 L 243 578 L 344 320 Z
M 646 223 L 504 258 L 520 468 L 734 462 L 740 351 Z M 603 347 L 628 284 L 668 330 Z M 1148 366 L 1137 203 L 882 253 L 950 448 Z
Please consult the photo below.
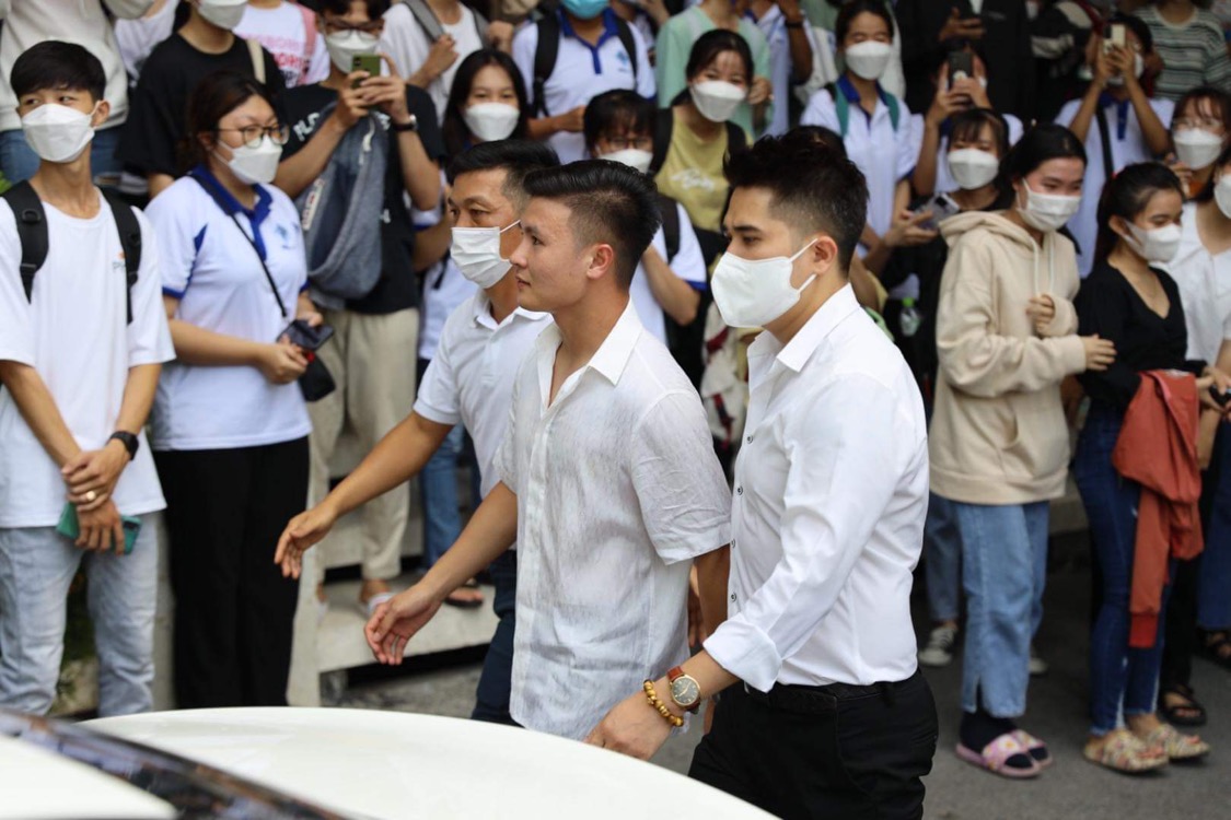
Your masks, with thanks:
M 659 193 L 648 175 L 622 162 L 582 160 L 528 175 L 526 193 L 569 208 L 569 229 L 579 243 L 611 245 L 616 275 L 628 290 L 662 221 Z

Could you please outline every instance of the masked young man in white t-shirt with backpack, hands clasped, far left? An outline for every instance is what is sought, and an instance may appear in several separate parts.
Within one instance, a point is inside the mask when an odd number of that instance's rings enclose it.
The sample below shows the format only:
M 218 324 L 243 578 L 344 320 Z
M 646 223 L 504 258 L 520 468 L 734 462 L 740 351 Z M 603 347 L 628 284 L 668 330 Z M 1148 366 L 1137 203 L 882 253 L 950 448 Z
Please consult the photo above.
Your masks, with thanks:
M 142 237 L 130 283 L 113 213 L 127 215 L 112 210 L 128 205 L 94 187 L 90 139 L 110 113 L 106 80 L 97 58 L 59 41 L 32 47 L 12 69 L 17 113 L 42 164 L 0 203 L 0 707 L 33 714 L 55 697 L 65 599 L 82 558 L 98 712 L 153 704 L 151 514 L 165 503 L 142 429 L 175 353 L 154 231 L 129 209 Z M 37 240 L 14 218 L 38 210 L 41 263 L 23 256 Z M 21 269 L 27 258 L 39 266 L 32 279 Z

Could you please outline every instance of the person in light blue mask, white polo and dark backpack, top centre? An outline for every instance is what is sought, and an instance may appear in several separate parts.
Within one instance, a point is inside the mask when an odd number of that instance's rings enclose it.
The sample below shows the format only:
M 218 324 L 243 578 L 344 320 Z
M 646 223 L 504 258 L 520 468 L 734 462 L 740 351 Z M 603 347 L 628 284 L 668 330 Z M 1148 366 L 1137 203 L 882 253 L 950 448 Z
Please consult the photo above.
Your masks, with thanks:
M 534 89 L 534 57 L 539 31 L 558 31 L 555 65 L 543 84 L 543 98 Z M 623 41 L 633 43 L 633 52 Z M 597 95 L 629 89 L 654 97 L 654 68 L 641 33 L 616 16 L 607 4 L 564 0 L 556 15 L 523 26 L 513 37 L 513 61 L 522 73 L 526 92 L 534 106 L 531 136 L 547 139 L 561 162 L 586 156 L 582 114 Z

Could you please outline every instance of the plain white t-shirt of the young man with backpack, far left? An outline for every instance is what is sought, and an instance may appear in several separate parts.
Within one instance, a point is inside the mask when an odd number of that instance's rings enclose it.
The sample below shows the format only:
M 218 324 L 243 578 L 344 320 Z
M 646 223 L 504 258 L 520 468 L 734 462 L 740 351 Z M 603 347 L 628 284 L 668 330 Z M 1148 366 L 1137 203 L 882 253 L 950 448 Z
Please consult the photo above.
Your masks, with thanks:
M 116 432 L 128 369 L 175 358 L 162 309 L 159 243 L 137 211 L 142 264 L 132 289 L 119 234 L 107 204 L 92 219 L 75 219 L 47 205 L 47 262 L 31 299 L 21 284 L 21 242 L 7 203 L 0 203 L 0 359 L 38 371 L 64 423 L 85 450 L 102 447 Z M 123 515 L 162 509 L 154 460 L 138 433 L 137 457 L 116 484 Z M 0 527 L 55 526 L 64 508 L 64 479 L 55 461 L 0 391 Z

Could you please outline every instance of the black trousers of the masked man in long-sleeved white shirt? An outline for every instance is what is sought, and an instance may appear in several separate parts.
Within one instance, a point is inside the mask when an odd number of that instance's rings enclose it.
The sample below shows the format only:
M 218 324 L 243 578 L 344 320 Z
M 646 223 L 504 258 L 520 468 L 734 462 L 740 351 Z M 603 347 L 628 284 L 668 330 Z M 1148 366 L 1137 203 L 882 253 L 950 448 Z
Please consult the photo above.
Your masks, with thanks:
M 922 818 L 936 741 L 936 702 L 918 671 L 899 684 L 768 695 L 736 684 L 688 776 L 789 820 Z

